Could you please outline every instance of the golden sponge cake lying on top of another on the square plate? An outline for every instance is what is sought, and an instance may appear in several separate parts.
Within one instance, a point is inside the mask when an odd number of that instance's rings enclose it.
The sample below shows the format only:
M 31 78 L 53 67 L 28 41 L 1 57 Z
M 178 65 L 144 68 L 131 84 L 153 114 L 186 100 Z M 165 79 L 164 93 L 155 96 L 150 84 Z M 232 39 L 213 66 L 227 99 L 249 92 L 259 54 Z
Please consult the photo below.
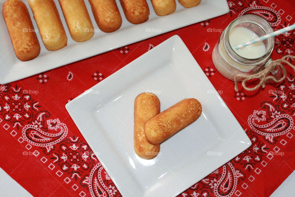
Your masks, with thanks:
M 183 99 L 149 119 L 144 125 L 145 136 L 149 143 L 159 144 L 195 122 L 201 113 L 202 106 L 197 99 Z

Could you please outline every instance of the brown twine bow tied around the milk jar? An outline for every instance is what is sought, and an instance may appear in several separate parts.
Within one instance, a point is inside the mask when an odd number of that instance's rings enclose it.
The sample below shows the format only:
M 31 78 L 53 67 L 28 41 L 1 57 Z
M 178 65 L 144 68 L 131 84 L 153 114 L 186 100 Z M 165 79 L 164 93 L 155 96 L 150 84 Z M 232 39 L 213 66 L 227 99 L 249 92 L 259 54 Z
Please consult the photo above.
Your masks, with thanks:
M 287 71 L 285 66 L 282 64 L 282 62 L 291 66 L 295 70 L 295 66 L 286 60 L 288 58 L 293 59 L 295 58 L 295 56 L 285 55 L 283 58 L 274 60 L 273 62 L 269 63 L 269 65 L 266 68 L 264 68 L 263 70 L 260 70 L 258 73 L 255 73 L 255 74 L 251 74 L 251 75 L 237 74 L 236 76 L 234 76 L 234 90 L 236 92 L 238 91 L 238 80 L 242 80 L 243 88 L 245 88 L 245 90 L 248 90 L 248 91 L 256 90 L 260 86 L 265 87 L 265 83 L 267 83 L 269 80 L 273 80 L 274 82 L 283 81 L 286 78 Z M 277 66 L 279 66 L 281 70 L 283 71 L 283 76 L 280 79 L 276 79 L 274 76 L 268 75 L 271 72 L 271 70 L 275 69 Z M 249 88 L 246 86 L 246 82 L 251 79 L 259 79 L 260 81 L 255 87 Z

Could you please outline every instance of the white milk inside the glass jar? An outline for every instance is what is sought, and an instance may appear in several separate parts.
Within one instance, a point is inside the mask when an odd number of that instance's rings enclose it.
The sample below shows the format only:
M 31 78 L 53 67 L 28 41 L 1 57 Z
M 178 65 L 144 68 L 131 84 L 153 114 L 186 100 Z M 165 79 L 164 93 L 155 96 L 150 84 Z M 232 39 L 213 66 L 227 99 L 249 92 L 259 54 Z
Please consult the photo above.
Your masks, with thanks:
M 250 29 L 247 29 L 245 27 L 234 27 L 229 34 L 230 46 L 235 46 L 258 37 L 259 36 Z M 223 58 L 228 64 L 225 65 L 222 61 L 220 61 L 220 59 L 216 54 L 214 54 L 214 52 L 212 54 L 213 63 L 217 70 L 228 79 L 233 80 L 236 74 L 243 74 L 243 72 L 249 72 L 255 67 L 244 66 L 232 60 L 230 56 L 228 56 L 228 54 L 226 53 L 223 42 L 219 43 L 218 50 L 221 58 Z M 215 53 L 216 52 L 217 51 L 215 51 Z M 250 46 L 246 46 L 242 49 L 237 49 L 235 50 L 235 52 L 244 58 L 254 59 L 263 56 L 266 52 L 266 49 L 263 42 L 257 42 Z M 231 66 L 238 70 L 235 70 Z

